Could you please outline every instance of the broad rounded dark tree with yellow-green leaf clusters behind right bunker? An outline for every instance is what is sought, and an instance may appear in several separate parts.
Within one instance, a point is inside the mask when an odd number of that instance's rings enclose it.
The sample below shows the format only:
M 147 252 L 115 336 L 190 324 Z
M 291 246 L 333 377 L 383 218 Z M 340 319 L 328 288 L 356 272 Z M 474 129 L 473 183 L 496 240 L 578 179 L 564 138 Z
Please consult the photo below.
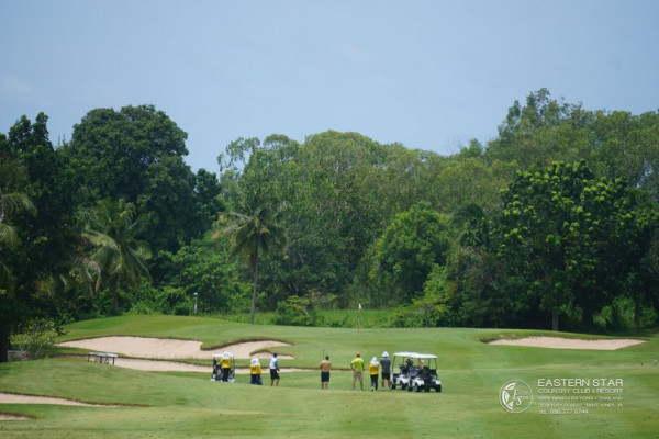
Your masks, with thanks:
M 507 277 L 524 279 L 532 301 L 592 326 L 596 309 L 625 289 L 647 252 L 634 192 L 622 180 L 595 179 L 584 161 L 520 172 L 502 194 L 492 240 Z M 641 215 L 643 216 L 643 215 Z

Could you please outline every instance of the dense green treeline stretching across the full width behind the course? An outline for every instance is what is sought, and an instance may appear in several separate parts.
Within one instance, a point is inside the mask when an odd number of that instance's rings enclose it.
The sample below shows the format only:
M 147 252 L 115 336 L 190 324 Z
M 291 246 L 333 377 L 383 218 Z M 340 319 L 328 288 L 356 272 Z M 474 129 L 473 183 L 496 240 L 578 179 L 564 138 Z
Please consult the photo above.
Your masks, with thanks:
M 394 307 L 389 324 L 615 329 L 659 306 L 659 114 L 546 90 L 444 157 L 325 132 L 239 138 L 219 175 L 150 105 L 0 134 L 0 338 L 33 318 Z M 219 151 L 220 153 L 220 151 Z

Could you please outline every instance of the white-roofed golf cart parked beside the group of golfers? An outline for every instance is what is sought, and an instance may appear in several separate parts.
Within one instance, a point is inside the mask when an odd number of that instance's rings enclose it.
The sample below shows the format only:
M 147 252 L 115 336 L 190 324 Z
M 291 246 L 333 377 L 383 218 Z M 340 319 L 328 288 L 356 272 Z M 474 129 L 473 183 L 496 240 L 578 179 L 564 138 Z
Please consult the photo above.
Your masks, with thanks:
M 395 367 L 399 365 L 399 372 Z M 437 356 L 418 352 L 394 352 L 391 363 L 393 379 L 391 389 L 404 391 L 442 392 L 442 380 L 437 376 Z

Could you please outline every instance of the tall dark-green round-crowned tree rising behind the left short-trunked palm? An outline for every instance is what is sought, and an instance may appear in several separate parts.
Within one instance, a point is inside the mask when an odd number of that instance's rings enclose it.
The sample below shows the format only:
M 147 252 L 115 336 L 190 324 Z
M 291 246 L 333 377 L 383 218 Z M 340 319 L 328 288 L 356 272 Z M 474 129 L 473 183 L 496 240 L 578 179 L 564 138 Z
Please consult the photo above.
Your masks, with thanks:
M 211 225 L 183 161 L 187 136 L 153 105 L 96 109 L 74 126 L 63 150 L 89 201 L 122 198 L 135 204 L 147 215 L 143 238 L 152 250 L 176 251 Z

